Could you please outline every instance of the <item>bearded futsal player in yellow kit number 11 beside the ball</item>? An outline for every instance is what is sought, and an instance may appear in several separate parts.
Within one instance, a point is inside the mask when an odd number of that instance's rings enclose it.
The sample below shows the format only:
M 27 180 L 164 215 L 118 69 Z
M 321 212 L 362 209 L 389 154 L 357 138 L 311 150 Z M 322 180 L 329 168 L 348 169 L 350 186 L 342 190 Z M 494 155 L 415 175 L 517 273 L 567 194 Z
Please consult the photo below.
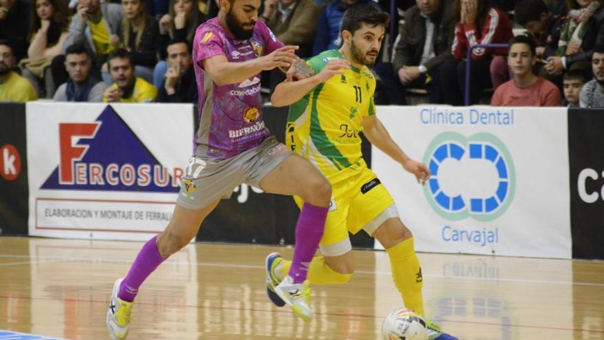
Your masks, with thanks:
M 380 52 L 389 16 L 369 2 L 347 10 L 342 19 L 339 50 L 329 50 L 307 61 L 315 76 L 286 80 L 275 89 L 274 106 L 290 105 L 286 143 L 311 161 L 332 184 L 332 205 L 319 245 L 322 256 L 310 262 L 312 284 L 350 280 L 354 258 L 348 232 L 364 229 L 386 249 L 393 280 L 406 308 L 424 315 L 421 268 L 413 236 L 402 223 L 394 200 L 362 159 L 360 133 L 395 159 L 423 184 L 430 170 L 410 159 L 375 116 L 375 78 L 371 67 Z M 298 205 L 301 199 L 294 197 Z M 288 273 L 290 261 L 272 253 L 266 258 L 267 292 L 277 306 L 283 302 L 272 291 Z M 428 322 L 430 339 L 456 339 Z

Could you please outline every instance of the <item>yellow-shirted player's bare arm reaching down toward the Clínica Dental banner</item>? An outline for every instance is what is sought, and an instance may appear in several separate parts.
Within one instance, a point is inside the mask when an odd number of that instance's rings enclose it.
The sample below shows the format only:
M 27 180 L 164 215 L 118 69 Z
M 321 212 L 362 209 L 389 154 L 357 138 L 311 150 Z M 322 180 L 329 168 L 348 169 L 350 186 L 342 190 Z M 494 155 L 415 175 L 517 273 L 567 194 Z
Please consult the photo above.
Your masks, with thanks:
M 410 159 L 392 137 L 390 137 L 384 124 L 375 115 L 365 117 L 362 126 L 363 134 L 371 144 L 400 163 L 405 170 L 415 175 L 418 182 L 421 182 L 421 184 L 426 183 L 426 180 L 430 178 L 428 167 L 419 161 Z

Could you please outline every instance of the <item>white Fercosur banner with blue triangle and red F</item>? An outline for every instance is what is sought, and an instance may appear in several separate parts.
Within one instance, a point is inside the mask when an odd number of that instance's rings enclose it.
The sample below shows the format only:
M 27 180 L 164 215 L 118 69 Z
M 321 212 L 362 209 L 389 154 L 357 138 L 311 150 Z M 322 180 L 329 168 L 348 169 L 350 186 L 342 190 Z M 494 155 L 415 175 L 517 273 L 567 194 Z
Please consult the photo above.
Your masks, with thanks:
M 147 240 L 193 152 L 191 104 L 27 103 L 32 236 Z

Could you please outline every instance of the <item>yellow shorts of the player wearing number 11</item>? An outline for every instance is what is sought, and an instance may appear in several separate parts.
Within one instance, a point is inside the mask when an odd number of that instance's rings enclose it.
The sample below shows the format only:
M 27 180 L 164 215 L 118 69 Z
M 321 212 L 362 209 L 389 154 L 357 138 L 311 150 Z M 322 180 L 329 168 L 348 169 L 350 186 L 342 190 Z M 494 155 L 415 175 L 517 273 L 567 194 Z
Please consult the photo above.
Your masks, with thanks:
M 332 206 L 325 221 L 325 233 L 320 245 L 334 245 L 356 234 L 386 208 L 394 204 L 390 193 L 369 168 L 342 170 L 332 184 Z M 294 196 L 298 207 L 303 201 Z

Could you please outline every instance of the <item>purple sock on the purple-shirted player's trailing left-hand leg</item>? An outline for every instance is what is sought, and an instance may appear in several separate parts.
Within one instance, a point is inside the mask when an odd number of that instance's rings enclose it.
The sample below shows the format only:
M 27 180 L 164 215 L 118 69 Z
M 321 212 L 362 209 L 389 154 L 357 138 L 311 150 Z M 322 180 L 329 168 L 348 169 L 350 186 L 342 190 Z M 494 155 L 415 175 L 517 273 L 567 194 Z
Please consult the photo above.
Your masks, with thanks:
M 143 281 L 163 262 L 163 258 L 155 245 L 157 236 L 153 236 L 148 240 L 143 249 L 139 251 L 139 255 L 132 262 L 132 267 L 128 271 L 128 275 L 124 277 L 124 281 L 119 286 L 117 297 L 124 301 L 132 302 L 139 293 L 139 287 Z

